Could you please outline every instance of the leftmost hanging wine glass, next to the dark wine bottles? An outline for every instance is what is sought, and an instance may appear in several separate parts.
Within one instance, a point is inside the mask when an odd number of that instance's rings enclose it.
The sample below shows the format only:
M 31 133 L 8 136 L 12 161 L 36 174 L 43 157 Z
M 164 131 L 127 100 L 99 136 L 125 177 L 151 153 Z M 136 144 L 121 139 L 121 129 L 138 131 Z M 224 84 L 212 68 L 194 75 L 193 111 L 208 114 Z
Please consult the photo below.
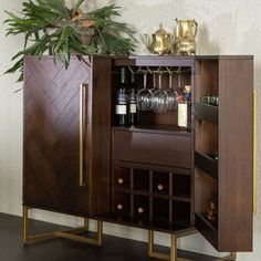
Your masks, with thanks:
M 147 88 L 147 73 L 144 73 L 144 87 L 137 93 L 137 108 L 138 111 L 152 111 L 153 107 L 153 92 Z

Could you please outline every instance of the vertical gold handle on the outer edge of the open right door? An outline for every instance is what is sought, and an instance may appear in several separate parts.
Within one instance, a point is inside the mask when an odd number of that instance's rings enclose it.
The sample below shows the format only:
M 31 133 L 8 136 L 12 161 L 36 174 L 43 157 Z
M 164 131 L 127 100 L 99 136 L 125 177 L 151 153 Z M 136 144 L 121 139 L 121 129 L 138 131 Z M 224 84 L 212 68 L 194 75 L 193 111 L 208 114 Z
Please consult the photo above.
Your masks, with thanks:
M 253 213 L 257 213 L 257 90 L 253 90 Z

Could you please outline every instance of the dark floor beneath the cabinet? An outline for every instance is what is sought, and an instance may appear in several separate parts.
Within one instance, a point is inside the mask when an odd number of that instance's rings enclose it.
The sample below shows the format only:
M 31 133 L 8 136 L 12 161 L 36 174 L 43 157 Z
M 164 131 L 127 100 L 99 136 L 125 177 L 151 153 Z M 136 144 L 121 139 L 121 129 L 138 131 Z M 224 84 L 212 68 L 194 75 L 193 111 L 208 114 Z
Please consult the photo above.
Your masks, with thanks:
M 23 246 L 22 220 L 0 213 L 0 261 L 155 261 L 147 257 L 147 244 L 134 240 L 104 236 L 103 248 L 72 242 L 65 239 Z M 61 226 L 30 221 L 33 232 L 59 230 Z M 163 248 L 163 251 L 167 249 Z M 179 251 L 182 258 L 210 261 L 211 257 Z

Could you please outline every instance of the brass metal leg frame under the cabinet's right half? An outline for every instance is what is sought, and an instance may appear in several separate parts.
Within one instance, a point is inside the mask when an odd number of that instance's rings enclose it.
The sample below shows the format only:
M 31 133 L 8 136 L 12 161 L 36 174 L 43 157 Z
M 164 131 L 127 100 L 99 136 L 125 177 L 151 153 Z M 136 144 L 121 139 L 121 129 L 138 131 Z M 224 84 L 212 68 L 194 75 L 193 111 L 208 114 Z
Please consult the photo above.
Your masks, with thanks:
M 170 234 L 170 254 L 165 254 L 165 253 L 154 251 L 154 231 L 148 230 L 148 257 L 160 259 L 160 260 L 168 260 L 168 261 L 192 261 L 191 259 L 178 258 L 177 240 L 178 238 L 190 236 L 196 232 L 197 232 L 196 230 L 188 230 L 185 232 L 182 231 L 180 233 Z M 236 261 L 237 253 L 231 252 L 228 257 L 213 259 L 213 261 L 222 261 L 222 260 Z

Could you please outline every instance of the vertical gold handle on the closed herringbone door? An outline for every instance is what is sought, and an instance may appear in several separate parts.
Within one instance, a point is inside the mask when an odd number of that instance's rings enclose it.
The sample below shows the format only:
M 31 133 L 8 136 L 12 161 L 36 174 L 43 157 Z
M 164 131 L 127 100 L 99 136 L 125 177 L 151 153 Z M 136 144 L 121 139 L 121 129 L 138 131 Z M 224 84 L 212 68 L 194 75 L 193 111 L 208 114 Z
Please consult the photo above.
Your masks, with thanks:
M 87 84 L 80 86 L 80 187 L 85 186 L 84 182 L 84 135 L 85 135 L 85 104 L 86 104 L 86 90 Z

